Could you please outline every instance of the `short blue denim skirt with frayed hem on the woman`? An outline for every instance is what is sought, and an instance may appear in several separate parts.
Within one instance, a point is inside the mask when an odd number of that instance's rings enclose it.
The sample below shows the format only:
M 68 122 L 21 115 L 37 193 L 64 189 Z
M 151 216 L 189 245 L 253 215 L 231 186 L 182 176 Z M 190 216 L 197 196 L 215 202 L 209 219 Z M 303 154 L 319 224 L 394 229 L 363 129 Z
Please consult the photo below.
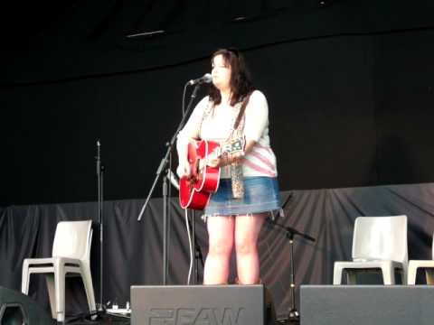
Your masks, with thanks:
M 278 180 L 272 177 L 245 177 L 244 198 L 232 197 L 231 179 L 221 179 L 219 189 L 204 210 L 204 217 L 247 215 L 280 209 Z

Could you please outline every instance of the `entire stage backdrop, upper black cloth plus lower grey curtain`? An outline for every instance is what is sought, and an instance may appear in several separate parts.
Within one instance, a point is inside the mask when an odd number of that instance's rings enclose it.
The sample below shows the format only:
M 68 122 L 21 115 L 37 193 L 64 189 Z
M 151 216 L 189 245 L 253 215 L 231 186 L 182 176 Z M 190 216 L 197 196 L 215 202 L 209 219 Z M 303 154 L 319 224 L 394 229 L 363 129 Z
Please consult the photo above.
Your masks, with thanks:
M 296 239 L 297 284 L 331 282 L 333 262 L 350 257 L 359 215 L 407 214 L 410 258 L 429 258 L 433 9 L 422 0 L 2 5 L 0 285 L 20 289 L 23 259 L 51 254 L 59 220 L 95 220 L 95 203 L 48 203 L 96 200 L 97 139 L 106 166 L 105 301 L 124 304 L 130 284 L 161 282 L 161 200 L 137 223 L 143 200 L 122 199 L 146 197 L 181 119 L 184 83 L 208 72 L 210 53 L 226 46 L 245 52 L 269 99 L 279 184 L 284 198 L 292 194 L 279 221 L 317 238 Z M 411 183 L 420 185 L 388 186 Z M 346 189 L 312 190 L 323 188 Z M 188 248 L 172 205 L 169 282 L 184 283 Z M 202 222 L 197 235 L 206 255 Z M 283 314 L 288 241 L 264 228 L 259 249 Z M 83 303 L 79 289 L 73 280 L 70 312 Z M 31 290 L 46 304 L 42 279 Z

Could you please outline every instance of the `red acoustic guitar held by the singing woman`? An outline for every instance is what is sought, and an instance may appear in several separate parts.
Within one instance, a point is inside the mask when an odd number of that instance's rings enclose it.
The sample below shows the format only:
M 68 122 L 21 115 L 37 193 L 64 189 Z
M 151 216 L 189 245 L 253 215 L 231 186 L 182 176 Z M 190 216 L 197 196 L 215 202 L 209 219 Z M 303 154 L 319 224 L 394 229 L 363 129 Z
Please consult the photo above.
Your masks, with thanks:
M 212 193 L 219 188 L 220 167 L 208 166 L 206 162 L 221 157 L 224 153 L 242 153 L 245 144 L 244 138 L 233 140 L 222 146 L 207 140 L 193 141 L 188 144 L 187 158 L 192 175 L 184 176 L 179 181 L 179 201 L 183 209 L 204 209 Z

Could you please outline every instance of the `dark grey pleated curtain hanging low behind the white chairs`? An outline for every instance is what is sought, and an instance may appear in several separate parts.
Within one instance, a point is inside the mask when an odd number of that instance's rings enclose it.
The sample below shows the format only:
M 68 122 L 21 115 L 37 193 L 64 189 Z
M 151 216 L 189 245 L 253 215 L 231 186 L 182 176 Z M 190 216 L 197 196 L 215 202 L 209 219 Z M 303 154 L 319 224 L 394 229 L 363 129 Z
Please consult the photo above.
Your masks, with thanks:
M 354 219 L 358 216 L 405 214 L 409 218 L 409 255 L 412 259 L 431 257 L 434 231 L 434 183 L 347 188 L 334 190 L 291 190 L 281 193 L 288 200 L 285 217 L 277 222 L 297 228 L 315 237 L 312 243 L 295 237 L 297 283 L 329 284 L 335 260 L 351 259 Z M 141 222 L 137 214 L 143 200 L 107 201 L 104 206 L 104 302 L 117 300 L 122 306 L 129 300 L 132 284 L 162 283 L 162 200 L 150 200 Z M 177 200 L 172 200 L 172 228 L 169 246 L 168 284 L 186 283 L 189 253 L 184 214 Z M 0 214 L 0 285 L 20 290 L 25 257 L 50 256 L 56 223 L 61 220 L 92 218 L 96 221 L 97 204 L 70 203 L 11 206 Z M 196 219 L 196 235 L 203 255 L 207 237 L 203 221 Z M 95 231 L 98 223 L 95 222 Z M 92 246 L 92 273 L 98 297 L 98 232 Z M 278 314 L 288 313 L 289 244 L 285 233 L 266 226 L 259 237 L 261 277 L 271 289 Z M 233 265 L 231 279 L 233 281 Z M 203 274 L 202 266 L 199 274 Z M 376 279 L 378 280 L 378 279 Z M 31 294 L 48 306 L 42 275 L 33 275 Z M 82 284 L 78 279 L 67 283 L 67 308 L 74 313 L 85 310 Z

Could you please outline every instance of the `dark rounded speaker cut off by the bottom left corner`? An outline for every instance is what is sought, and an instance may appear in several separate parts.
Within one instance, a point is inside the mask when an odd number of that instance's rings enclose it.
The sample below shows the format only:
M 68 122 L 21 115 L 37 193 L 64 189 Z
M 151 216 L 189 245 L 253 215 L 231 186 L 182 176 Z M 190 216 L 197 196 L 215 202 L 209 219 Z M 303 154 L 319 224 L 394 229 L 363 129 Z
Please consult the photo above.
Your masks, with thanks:
M 1 325 L 49 325 L 52 319 L 32 298 L 0 286 Z

